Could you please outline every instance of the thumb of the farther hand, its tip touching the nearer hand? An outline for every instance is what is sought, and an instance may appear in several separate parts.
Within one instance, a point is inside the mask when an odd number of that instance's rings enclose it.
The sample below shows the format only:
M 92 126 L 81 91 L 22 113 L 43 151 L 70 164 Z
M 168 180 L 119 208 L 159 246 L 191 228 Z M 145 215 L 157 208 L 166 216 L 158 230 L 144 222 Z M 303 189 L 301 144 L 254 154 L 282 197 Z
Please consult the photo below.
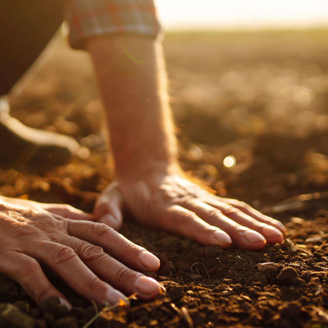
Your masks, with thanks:
M 100 194 L 96 201 L 93 210 L 96 221 L 118 230 L 123 223 L 123 203 L 123 195 L 118 189 L 117 183 L 113 182 Z

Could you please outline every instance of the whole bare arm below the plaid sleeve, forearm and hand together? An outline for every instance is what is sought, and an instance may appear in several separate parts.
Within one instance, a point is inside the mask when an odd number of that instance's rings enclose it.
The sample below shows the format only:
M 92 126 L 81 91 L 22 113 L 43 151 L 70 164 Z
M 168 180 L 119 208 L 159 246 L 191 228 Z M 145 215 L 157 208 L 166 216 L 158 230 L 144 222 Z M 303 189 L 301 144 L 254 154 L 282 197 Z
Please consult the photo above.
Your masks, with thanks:
M 139 65 L 125 54 L 121 44 Z M 137 36 L 87 42 L 108 116 L 116 179 L 94 215 L 115 229 L 127 206 L 140 222 L 205 245 L 259 250 L 283 241 L 284 226 L 247 204 L 216 197 L 185 178 L 177 163 L 161 44 Z

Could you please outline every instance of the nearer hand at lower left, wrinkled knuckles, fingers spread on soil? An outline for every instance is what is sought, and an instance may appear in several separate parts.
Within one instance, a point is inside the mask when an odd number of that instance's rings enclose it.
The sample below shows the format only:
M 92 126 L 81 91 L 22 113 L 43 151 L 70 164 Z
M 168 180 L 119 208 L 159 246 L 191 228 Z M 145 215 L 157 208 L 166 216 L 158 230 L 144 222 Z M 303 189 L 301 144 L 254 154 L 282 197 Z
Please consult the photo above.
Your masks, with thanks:
M 126 300 L 115 288 L 127 295 L 136 292 L 141 299 L 153 298 L 159 283 L 132 269 L 155 271 L 158 258 L 91 219 L 69 205 L 0 196 L 0 272 L 17 281 L 35 301 L 57 296 L 68 308 L 71 304 L 40 264 L 99 304 Z

